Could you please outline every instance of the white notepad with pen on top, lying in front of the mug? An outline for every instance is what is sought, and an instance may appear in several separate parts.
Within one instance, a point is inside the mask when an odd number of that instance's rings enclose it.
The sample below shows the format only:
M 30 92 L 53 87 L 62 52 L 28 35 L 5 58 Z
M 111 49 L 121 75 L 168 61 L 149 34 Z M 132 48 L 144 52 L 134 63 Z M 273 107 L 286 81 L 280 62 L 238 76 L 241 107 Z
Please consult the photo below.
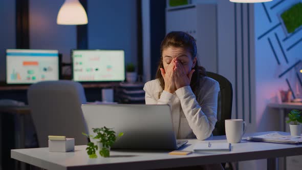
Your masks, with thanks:
M 196 143 L 193 147 L 194 152 L 204 151 L 231 151 L 230 143 Z

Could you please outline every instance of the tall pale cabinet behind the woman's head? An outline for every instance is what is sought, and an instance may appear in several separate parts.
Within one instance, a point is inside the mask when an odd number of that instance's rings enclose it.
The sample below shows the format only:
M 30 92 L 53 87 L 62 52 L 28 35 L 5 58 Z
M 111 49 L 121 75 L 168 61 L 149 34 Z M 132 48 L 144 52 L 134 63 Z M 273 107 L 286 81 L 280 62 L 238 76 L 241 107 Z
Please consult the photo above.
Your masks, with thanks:
M 217 5 L 197 4 L 166 9 L 166 33 L 184 31 L 196 38 L 199 65 L 217 73 Z

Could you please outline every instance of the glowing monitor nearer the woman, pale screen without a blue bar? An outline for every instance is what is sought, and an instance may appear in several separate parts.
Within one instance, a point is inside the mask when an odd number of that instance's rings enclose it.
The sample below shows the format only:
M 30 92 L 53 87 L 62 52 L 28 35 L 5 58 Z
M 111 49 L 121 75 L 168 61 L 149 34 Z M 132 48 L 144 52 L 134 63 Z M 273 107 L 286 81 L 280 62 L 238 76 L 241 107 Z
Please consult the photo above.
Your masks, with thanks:
M 72 50 L 74 81 L 124 81 L 123 50 Z

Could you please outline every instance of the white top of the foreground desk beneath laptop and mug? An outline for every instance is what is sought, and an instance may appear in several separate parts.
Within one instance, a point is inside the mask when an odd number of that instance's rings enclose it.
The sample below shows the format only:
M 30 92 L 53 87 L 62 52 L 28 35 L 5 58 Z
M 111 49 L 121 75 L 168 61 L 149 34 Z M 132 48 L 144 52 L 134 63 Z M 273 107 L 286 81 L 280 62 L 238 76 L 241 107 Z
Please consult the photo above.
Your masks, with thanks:
M 257 136 L 272 132 L 252 133 Z M 288 133 L 281 132 L 284 135 Z M 184 151 L 192 151 L 194 143 L 226 142 L 225 136 L 215 136 L 206 141 L 189 140 Z M 75 146 L 75 152 L 51 153 L 46 148 L 11 150 L 11 158 L 45 169 L 142 169 L 201 165 L 209 163 L 267 159 L 302 155 L 302 145 L 247 142 L 232 144 L 230 152 L 201 152 L 190 155 L 168 155 L 169 151 L 111 151 L 110 158 L 90 159 L 86 145 Z

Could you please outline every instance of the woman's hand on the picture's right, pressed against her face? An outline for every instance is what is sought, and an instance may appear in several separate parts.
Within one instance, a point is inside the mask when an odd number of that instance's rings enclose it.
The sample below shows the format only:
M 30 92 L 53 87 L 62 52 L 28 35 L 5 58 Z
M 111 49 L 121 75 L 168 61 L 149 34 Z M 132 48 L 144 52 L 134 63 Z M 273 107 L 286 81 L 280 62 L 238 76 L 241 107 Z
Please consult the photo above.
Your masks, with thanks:
M 183 65 L 176 60 L 175 69 L 174 69 L 174 82 L 176 89 L 190 86 L 191 77 L 195 70 L 191 70 L 189 74 L 186 73 L 185 68 Z

